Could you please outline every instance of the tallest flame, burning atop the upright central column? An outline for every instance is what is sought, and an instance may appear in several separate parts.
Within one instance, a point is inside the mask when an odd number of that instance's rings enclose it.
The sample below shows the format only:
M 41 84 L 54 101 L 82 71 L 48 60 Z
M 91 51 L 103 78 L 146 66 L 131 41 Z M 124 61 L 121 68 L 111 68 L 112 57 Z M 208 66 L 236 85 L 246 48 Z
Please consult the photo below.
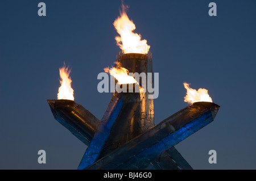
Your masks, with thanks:
M 126 14 L 127 6 L 122 4 L 120 16 L 114 21 L 114 27 L 120 36 L 115 36 L 117 45 L 124 53 L 148 53 L 150 45 L 147 45 L 147 40 L 141 40 L 141 35 L 134 33 L 135 24 Z

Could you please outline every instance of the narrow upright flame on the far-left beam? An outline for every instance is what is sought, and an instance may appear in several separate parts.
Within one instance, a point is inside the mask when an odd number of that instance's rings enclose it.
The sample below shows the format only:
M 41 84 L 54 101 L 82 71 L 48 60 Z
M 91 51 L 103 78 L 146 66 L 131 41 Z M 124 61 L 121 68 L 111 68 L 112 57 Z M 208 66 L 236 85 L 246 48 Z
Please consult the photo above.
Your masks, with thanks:
M 58 99 L 69 99 L 74 100 L 74 90 L 71 87 L 71 78 L 69 77 L 69 74 L 71 73 L 71 70 L 68 70 L 68 68 L 65 68 L 65 65 L 63 68 L 60 68 L 60 87 L 58 92 Z

